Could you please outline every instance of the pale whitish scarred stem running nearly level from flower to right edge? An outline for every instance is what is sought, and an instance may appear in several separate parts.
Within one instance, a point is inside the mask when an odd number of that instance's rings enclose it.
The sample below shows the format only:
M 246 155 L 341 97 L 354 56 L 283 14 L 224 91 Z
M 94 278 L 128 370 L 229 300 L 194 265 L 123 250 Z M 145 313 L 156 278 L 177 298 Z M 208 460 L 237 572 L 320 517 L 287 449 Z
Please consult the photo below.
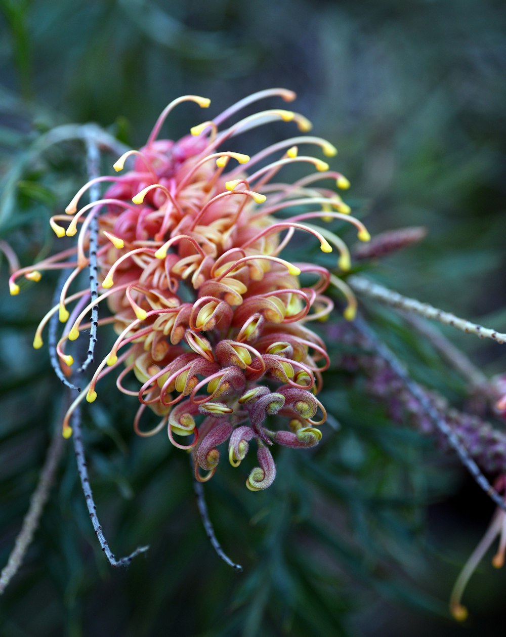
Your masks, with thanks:
M 425 318 L 438 320 L 444 325 L 456 327 L 456 329 L 468 334 L 476 334 L 476 336 L 479 336 L 480 338 L 491 338 L 491 340 L 496 341 L 496 343 L 500 343 L 501 345 L 506 343 L 506 334 L 498 332 L 495 329 L 482 327 L 481 325 L 472 323 L 465 318 L 456 317 L 450 312 L 438 310 L 438 308 L 435 308 L 428 303 L 421 303 L 420 301 L 417 301 L 417 299 L 410 299 L 398 292 L 389 290 L 383 285 L 378 285 L 378 283 L 368 281 L 362 276 L 348 276 L 346 282 L 352 287 L 352 289 L 355 290 L 355 292 L 365 294 L 365 296 L 375 299 L 375 301 L 380 301 L 380 303 L 391 305 L 399 310 L 415 312 Z

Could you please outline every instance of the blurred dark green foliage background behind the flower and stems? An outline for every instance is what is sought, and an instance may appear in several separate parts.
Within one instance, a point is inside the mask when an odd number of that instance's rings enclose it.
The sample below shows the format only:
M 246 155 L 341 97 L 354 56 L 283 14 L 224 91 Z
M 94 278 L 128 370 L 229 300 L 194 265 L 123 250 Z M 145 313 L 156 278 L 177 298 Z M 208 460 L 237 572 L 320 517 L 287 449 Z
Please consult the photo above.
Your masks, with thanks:
M 296 109 L 338 146 L 334 165 L 352 182 L 345 200 L 371 231 L 428 227 L 422 245 L 380 266 L 380 280 L 505 331 L 502 1 L 1 0 L 0 8 L 0 237 L 23 264 L 52 249 L 48 217 L 85 180 L 78 143 L 30 154 L 44 131 L 98 122 L 135 147 L 173 97 L 211 97 L 217 113 L 279 85 L 298 92 Z M 178 138 L 200 117 L 180 108 L 164 132 Z M 238 150 L 263 147 L 280 130 L 257 129 Z M 11 298 L 4 263 L 0 274 L 4 562 L 59 423 L 62 388 L 46 350 L 31 349 L 54 280 Z M 389 311 L 373 317 L 416 378 L 463 400 L 463 383 L 416 334 Z M 486 371 L 504 368 L 494 343 L 452 340 Z M 334 360 L 341 350 L 329 343 Z M 136 438 L 135 401 L 115 396 L 104 389 L 85 413 L 92 485 L 115 550 L 150 550 L 127 571 L 108 566 L 69 450 L 27 561 L 0 599 L 3 636 L 503 634 L 504 575 L 488 565 L 469 587 L 468 626 L 445 610 L 491 505 L 455 462 L 392 425 L 338 369 L 326 373 L 322 401 L 339 431 L 326 427 L 310 452 L 278 449 L 278 478 L 264 493 L 246 492 L 245 469 L 225 462 L 205 487 L 217 536 L 242 574 L 206 540 L 185 454 L 163 434 Z

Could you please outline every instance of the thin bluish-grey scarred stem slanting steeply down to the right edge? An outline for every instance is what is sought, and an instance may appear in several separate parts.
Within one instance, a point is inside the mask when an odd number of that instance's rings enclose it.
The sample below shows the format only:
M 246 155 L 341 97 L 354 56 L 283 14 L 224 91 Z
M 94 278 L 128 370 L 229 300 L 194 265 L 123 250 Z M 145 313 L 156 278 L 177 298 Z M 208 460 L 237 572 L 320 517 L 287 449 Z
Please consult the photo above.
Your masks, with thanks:
M 363 320 L 360 316 L 355 318 L 352 325 L 354 329 L 356 329 L 356 331 L 370 343 L 370 347 L 386 362 L 393 373 L 400 378 L 404 387 L 408 390 L 411 396 L 416 399 L 424 413 L 426 413 L 427 417 L 431 420 L 432 424 L 445 436 L 451 447 L 458 455 L 460 461 L 465 468 L 468 469 L 479 487 L 481 487 L 481 489 L 483 489 L 484 492 L 491 497 L 500 509 L 506 512 L 506 503 L 504 498 L 501 497 L 494 487 L 488 482 L 479 466 L 475 461 L 473 461 L 463 443 L 459 440 L 456 433 L 441 417 L 435 406 L 431 404 L 423 389 L 414 380 L 412 380 L 412 378 L 410 378 L 406 369 L 403 367 L 401 362 L 398 361 L 393 352 L 391 352 L 391 350 L 389 350 L 389 348 L 387 348 L 386 345 L 379 340 L 372 329 L 366 324 L 365 320 Z

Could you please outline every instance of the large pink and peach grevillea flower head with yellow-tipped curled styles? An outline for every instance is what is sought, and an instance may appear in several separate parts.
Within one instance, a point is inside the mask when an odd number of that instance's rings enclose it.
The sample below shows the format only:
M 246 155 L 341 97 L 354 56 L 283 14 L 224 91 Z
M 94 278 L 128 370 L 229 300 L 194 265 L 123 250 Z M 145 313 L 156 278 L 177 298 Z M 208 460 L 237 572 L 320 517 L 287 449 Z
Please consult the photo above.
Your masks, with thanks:
M 69 408 L 65 437 L 72 434 L 70 417 L 76 405 L 84 396 L 94 401 L 100 378 L 121 368 L 117 387 L 140 401 L 136 433 L 150 436 L 166 427 L 173 445 L 192 450 L 195 476 L 201 482 L 213 475 L 218 448 L 226 441 L 233 466 L 256 441 L 259 467 L 251 471 L 246 485 L 259 490 L 275 478 L 273 443 L 307 448 L 321 440 L 319 426 L 326 412 L 316 396 L 329 358 L 324 342 L 307 324 L 326 318 L 333 309 L 324 296 L 330 282 L 347 299 L 345 318 L 353 318 L 356 302 L 345 283 L 327 269 L 291 263 L 279 254 L 295 231 L 303 232 L 319 241 L 323 252 L 335 247 L 338 266 L 345 271 L 350 267 L 345 243 L 328 228 L 307 222 L 345 221 L 356 226 L 360 240 L 368 241 L 369 234 L 349 215 L 349 206 L 335 190 L 317 185 L 331 179 L 345 189 L 347 179 L 322 159 L 299 154 L 299 145 L 315 145 L 331 157 L 336 150 L 328 141 L 301 134 L 253 157 L 226 150 L 236 135 L 269 122 L 294 122 L 302 133 L 310 129 L 305 117 L 282 109 L 264 110 L 222 127 L 245 106 L 273 96 L 287 102 L 295 97 L 284 89 L 261 91 L 196 125 L 179 141 L 159 140 L 174 106 L 184 101 L 202 108 L 210 104 L 199 96 L 173 101 L 145 147 L 127 152 L 114 164 L 122 171 L 133 156 L 131 171 L 90 180 L 67 206 L 68 216 L 50 220 L 57 236 L 78 234 L 76 247 L 11 277 L 11 294 L 17 294 L 15 281 L 21 275 L 38 280 L 45 269 L 71 268 L 59 303 L 43 319 L 34 340 L 34 347 L 41 347 L 43 327 L 59 313 L 65 327 L 55 347 L 68 376 L 73 364 L 66 353 L 68 341 L 93 327 L 85 317 L 102 301 L 112 315 L 96 322 L 113 323 L 117 340 L 87 390 Z M 294 162 L 307 164 L 311 174 L 294 183 L 275 180 Z M 107 184 L 103 197 L 80 207 L 83 194 L 102 183 Z M 274 216 L 297 206 L 310 211 Z M 69 221 L 66 227 L 64 220 Z M 70 294 L 94 255 L 94 222 L 99 228 L 99 294 L 90 296 L 89 288 Z M 303 287 L 300 275 L 308 287 Z M 132 385 L 126 377 L 131 374 L 139 389 L 128 389 Z M 150 431 L 140 422 L 147 407 L 161 418 Z M 182 444 L 185 437 L 191 437 L 188 444 Z

